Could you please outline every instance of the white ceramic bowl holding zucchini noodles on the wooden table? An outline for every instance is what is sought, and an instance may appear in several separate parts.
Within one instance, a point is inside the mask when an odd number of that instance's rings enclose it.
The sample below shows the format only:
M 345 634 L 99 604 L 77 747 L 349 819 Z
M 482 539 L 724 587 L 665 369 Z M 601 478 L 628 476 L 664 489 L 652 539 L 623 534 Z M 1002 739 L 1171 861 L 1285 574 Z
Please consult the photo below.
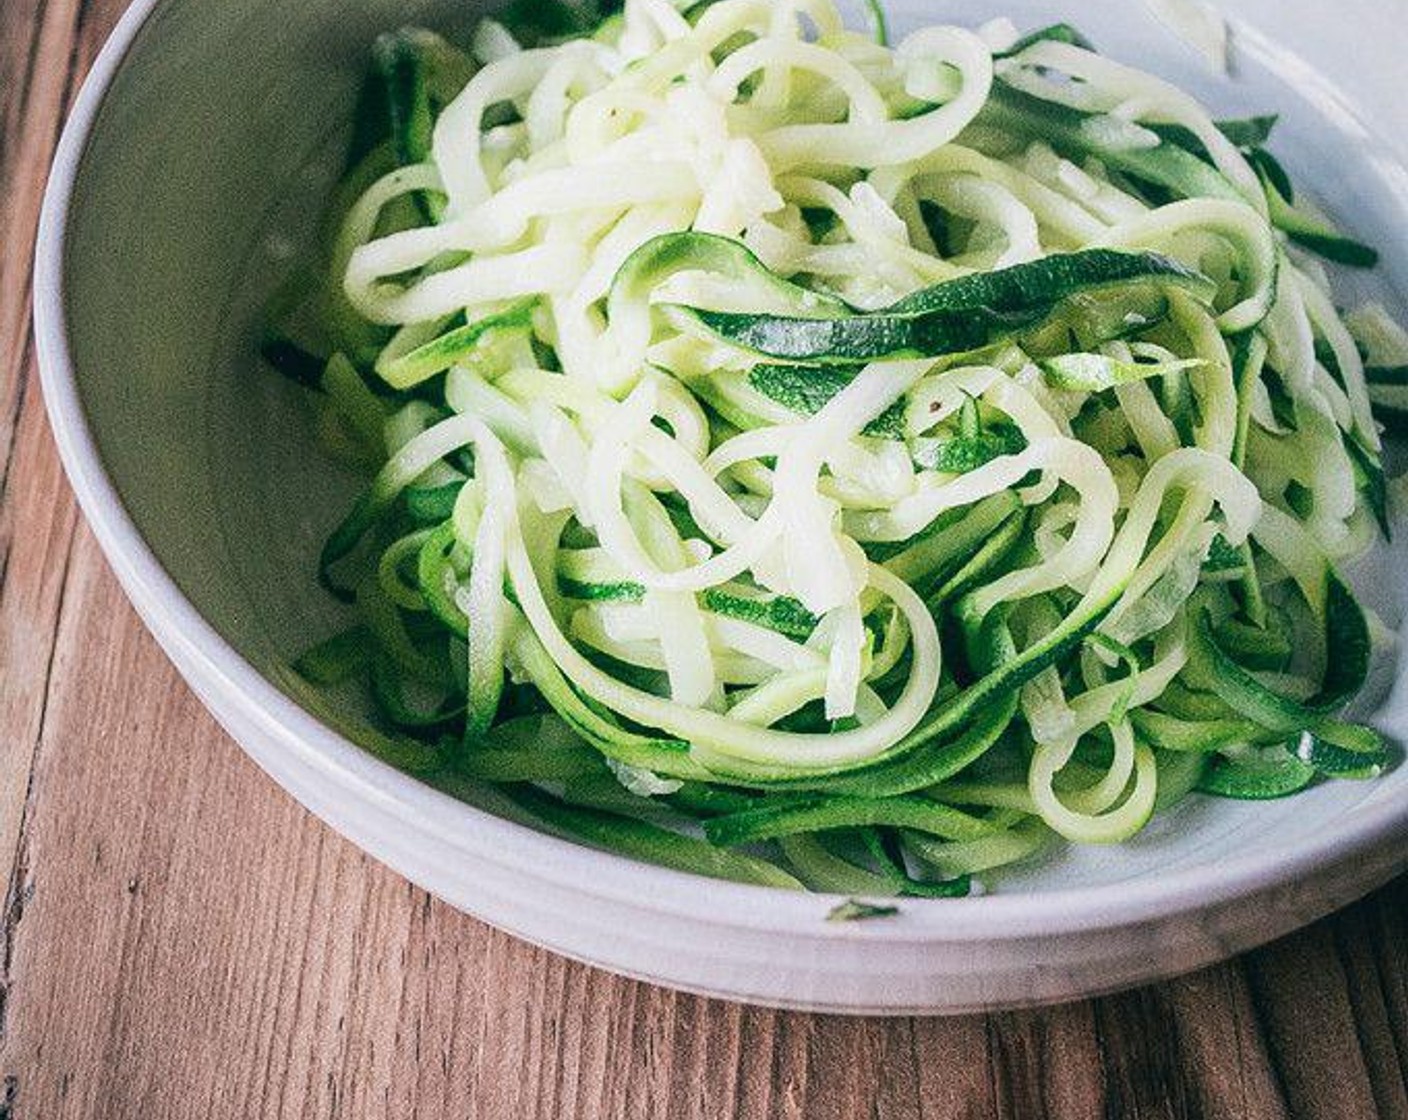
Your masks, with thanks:
M 258 309 L 318 218 L 370 38 L 465 7 L 137 0 L 83 87 L 45 201 L 38 340 L 69 476 L 152 633 L 275 780 L 410 879 L 528 940 L 677 988 L 841 1012 L 1017 1006 L 1148 981 L 1283 934 L 1404 868 L 1398 766 L 1270 804 L 1195 797 L 1128 845 L 1055 857 L 991 896 L 829 924 L 834 899 L 635 864 L 452 800 L 270 683 L 332 617 L 310 573 L 352 479 L 320 459 L 296 396 L 253 361 Z M 1036 25 L 1062 6 L 891 7 L 905 28 L 921 15 Z M 1229 1 L 1235 80 L 1211 76 L 1138 4 L 1064 7 L 1104 49 L 1219 111 L 1280 110 L 1293 173 L 1387 251 L 1377 282 L 1408 292 L 1404 4 Z M 1367 579 L 1391 620 L 1402 559 L 1378 556 Z M 1395 676 L 1383 666 L 1380 697 Z M 1402 740 L 1398 685 L 1376 720 Z

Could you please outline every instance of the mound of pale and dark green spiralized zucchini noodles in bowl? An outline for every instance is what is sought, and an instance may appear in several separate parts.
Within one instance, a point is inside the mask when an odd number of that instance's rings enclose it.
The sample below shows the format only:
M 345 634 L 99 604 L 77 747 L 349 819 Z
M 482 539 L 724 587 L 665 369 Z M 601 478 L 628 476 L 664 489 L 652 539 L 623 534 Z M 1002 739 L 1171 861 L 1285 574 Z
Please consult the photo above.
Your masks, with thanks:
M 1408 337 L 1273 124 L 831 0 L 384 35 L 266 347 L 375 472 L 296 668 L 444 788 L 845 893 L 1377 773 Z

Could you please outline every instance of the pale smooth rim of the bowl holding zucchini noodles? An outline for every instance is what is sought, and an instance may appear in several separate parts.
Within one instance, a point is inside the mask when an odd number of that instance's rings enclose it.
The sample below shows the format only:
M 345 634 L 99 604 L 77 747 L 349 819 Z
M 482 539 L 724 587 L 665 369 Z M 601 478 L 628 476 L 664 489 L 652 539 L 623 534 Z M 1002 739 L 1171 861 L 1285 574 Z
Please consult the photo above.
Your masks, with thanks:
M 1398 797 L 1395 803 L 1393 796 L 1370 796 L 1339 827 L 1307 838 L 1288 854 L 1266 851 L 1219 859 L 1215 865 L 1193 862 L 1167 875 L 1095 886 L 907 899 L 901 914 L 887 923 L 818 923 L 818 903 L 829 906 L 838 896 L 705 879 L 542 833 L 441 793 L 335 733 L 245 661 L 162 566 L 103 465 L 77 387 L 66 314 L 69 210 L 113 83 L 153 14 L 168 1 L 134 0 L 124 11 L 89 70 L 56 145 L 34 259 L 39 382 L 69 482 L 146 627 L 183 675 L 187 665 L 197 666 L 203 679 L 213 682 L 211 687 L 237 706 L 241 716 L 269 731 L 298 762 L 321 771 L 338 799 L 379 802 L 403 817 L 414 814 L 420 828 L 466 855 L 491 859 L 528 878 L 579 888 L 591 882 L 591 893 L 638 910 L 753 931 L 895 945 L 1014 941 L 1143 926 L 1291 888 L 1311 872 L 1347 864 L 1400 834 L 1408 835 L 1408 799 Z M 1408 851 L 1393 862 L 1398 871 L 1408 866 Z M 707 892 L 700 889 L 704 883 Z

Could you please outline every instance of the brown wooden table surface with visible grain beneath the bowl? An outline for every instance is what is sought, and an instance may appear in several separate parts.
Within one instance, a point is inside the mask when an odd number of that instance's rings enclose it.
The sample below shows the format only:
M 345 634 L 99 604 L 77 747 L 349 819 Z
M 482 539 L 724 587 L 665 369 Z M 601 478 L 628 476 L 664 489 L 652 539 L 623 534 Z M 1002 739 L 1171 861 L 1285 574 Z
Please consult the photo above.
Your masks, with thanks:
M 39 194 L 122 7 L 0 0 L 0 1120 L 1408 1117 L 1405 879 L 1170 983 L 846 1020 L 569 964 L 275 788 L 132 614 L 39 399 Z

